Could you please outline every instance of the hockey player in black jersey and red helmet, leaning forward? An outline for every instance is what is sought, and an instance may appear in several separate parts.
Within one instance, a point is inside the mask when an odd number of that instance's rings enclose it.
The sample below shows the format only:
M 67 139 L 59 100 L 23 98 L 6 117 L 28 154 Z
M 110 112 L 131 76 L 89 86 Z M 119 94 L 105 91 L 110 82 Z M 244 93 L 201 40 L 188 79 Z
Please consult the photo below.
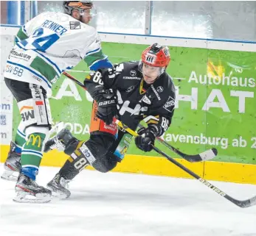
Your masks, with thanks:
M 116 115 L 134 130 L 143 119 L 148 123 L 139 129 L 135 143 L 142 151 L 151 151 L 151 143 L 168 129 L 173 117 L 175 87 L 166 72 L 169 62 L 167 46 L 154 43 L 139 62 L 122 62 L 86 76 L 84 85 L 94 99 L 90 138 L 80 141 L 62 129 L 46 143 L 46 151 L 62 148 L 69 155 L 47 187 L 67 198 L 66 183 L 87 165 L 105 173 L 122 161 L 132 137 L 118 129 Z

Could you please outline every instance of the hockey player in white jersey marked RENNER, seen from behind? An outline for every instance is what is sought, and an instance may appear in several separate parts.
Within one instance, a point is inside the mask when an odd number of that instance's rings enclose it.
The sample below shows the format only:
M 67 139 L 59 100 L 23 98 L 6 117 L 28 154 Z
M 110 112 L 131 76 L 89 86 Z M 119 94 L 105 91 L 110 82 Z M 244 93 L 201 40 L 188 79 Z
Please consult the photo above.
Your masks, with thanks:
M 4 70 L 5 83 L 18 103 L 21 123 L 1 178 L 16 180 L 13 172 L 19 172 L 13 199 L 18 202 L 50 201 L 51 191 L 37 185 L 35 176 L 52 124 L 48 100 L 52 83 L 80 60 L 91 71 L 112 67 L 102 52 L 96 29 L 88 25 L 92 1 L 63 1 L 63 7 L 64 13 L 44 12 L 21 27 Z

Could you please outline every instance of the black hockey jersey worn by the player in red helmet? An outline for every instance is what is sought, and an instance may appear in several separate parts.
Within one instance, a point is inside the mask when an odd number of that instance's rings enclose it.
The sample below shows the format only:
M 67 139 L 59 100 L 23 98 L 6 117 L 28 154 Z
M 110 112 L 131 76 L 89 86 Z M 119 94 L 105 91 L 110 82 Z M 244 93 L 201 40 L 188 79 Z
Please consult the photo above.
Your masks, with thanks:
M 123 124 L 136 129 L 139 122 L 145 119 L 147 123 L 158 123 L 166 131 L 175 106 L 175 87 L 166 72 L 148 85 L 139 71 L 139 62 L 122 62 L 99 71 L 101 78 L 91 74 L 84 83 L 89 93 L 92 85 L 103 85 L 114 91 L 119 119 Z

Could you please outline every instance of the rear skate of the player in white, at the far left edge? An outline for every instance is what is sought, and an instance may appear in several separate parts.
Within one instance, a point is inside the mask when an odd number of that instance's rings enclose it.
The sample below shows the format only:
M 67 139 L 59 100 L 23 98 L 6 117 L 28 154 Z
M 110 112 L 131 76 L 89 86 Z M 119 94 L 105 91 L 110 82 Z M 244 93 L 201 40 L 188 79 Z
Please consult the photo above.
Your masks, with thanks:
M 1 179 L 8 181 L 17 181 L 18 174 L 21 171 L 21 154 L 15 152 L 15 143 L 10 143 L 10 151 L 7 160 L 4 162 L 4 173 Z

